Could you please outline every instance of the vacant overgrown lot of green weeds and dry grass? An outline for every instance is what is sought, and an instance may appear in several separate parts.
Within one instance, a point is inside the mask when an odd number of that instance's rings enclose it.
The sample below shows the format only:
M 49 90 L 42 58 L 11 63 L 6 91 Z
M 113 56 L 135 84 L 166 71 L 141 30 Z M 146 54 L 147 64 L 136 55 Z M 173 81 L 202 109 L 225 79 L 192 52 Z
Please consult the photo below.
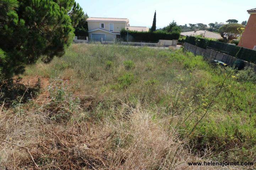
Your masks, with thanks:
M 256 161 L 250 69 L 213 66 L 182 50 L 75 44 L 20 77 L 27 91 L 0 107 L 1 168 L 196 169 L 186 161 Z

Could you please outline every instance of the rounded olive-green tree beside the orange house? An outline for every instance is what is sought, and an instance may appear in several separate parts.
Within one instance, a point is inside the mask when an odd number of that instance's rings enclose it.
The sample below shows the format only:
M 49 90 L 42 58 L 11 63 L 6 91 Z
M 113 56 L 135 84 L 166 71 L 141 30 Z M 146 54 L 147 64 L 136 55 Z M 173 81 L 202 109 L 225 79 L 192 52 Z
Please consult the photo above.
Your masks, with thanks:
M 240 35 L 239 29 L 245 28 L 242 24 L 230 23 L 219 28 L 219 33 L 224 39 L 224 42 L 231 42 Z

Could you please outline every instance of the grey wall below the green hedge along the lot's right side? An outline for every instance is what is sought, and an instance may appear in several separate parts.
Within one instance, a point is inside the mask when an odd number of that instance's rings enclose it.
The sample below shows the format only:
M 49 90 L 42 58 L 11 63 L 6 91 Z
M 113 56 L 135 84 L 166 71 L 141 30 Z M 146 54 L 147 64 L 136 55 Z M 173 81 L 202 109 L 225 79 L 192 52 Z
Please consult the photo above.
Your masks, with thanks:
M 221 53 L 219 51 L 212 50 L 212 49 L 202 49 L 200 47 L 189 44 L 187 42 L 185 42 L 184 48 L 187 51 L 190 51 L 190 52 L 194 53 L 195 55 L 203 56 L 204 59 L 206 59 L 208 61 L 218 60 L 218 61 L 222 61 L 222 62 L 224 62 L 228 65 L 231 65 L 236 61 L 236 58 L 233 57 L 233 56 L 229 56 L 227 54 L 224 54 L 224 53 Z M 249 63 L 247 61 L 243 61 L 243 62 L 245 64 L 245 66 L 252 67 L 256 71 L 256 65 L 255 64 Z

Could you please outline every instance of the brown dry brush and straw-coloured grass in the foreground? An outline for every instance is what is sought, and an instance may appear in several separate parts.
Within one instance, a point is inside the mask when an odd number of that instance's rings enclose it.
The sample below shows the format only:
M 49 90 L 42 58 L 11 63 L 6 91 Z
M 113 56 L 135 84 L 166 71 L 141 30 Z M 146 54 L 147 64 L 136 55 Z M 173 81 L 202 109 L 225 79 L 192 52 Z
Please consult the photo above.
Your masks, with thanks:
M 80 120 L 81 103 L 59 82 L 51 81 L 31 103 L 13 109 L 2 104 L 0 169 L 194 169 L 186 162 L 202 160 L 183 149 L 187 142 L 164 126 L 165 119 L 153 120 L 140 104 L 121 102 L 113 117 L 96 124 Z M 64 112 L 69 116 L 60 117 Z

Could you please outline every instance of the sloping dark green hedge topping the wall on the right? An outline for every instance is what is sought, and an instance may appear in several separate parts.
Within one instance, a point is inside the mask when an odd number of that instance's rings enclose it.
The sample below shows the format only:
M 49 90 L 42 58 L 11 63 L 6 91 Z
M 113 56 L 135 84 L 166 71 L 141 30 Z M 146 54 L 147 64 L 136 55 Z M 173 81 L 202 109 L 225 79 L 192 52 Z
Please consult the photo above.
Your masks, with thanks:
M 243 48 L 235 45 L 230 45 L 223 42 L 212 41 L 212 40 L 207 40 L 203 38 L 196 38 L 194 36 L 187 36 L 185 42 L 192 45 L 196 45 L 203 49 L 206 49 L 206 48 L 213 49 L 233 57 L 236 57 L 236 54 L 239 52 L 237 58 L 256 64 L 255 50 L 251 50 L 251 49 L 247 49 L 247 48 Z

